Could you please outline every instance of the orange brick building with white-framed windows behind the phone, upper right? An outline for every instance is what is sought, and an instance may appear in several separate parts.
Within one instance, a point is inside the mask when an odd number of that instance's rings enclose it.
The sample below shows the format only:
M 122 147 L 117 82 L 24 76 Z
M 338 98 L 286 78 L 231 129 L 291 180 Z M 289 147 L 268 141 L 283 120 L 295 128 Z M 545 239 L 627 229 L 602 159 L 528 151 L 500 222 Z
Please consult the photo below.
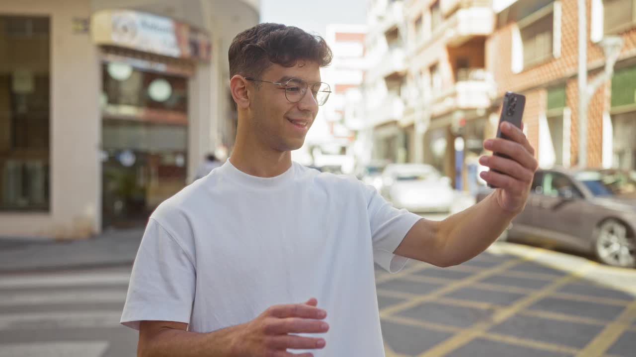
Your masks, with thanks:
M 616 12 L 616 9 L 622 9 L 633 14 L 636 4 L 633 0 L 604 2 L 588 0 L 586 3 L 589 83 L 602 71 L 605 63 L 603 51 L 593 41 L 595 34 L 597 34 L 596 37 L 601 34 L 623 38 L 624 45 L 615 66 L 617 72 L 621 69 L 624 72 L 636 62 L 634 21 L 636 17 L 632 15 L 631 20 L 623 20 L 623 25 L 618 30 L 611 29 L 611 24 L 616 20 L 616 15 L 611 11 Z M 592 17 L 592 12 L 598 14 L 599 6 L 600 11 L 605 9 L 605 12 L 601 12 L 603 15 Z M 579 130 L 577 29 L 576 0 L 521 0 L 497 14 L 494 33 L 486 43 L 486 67 L 497 83 L 497 99 L 494 101 L 493 108 L 499 109 L 506 91 L 516 91 L 527 96 L 527 108 L 524 115 L 527 135 L 531 144 L 538 149 L 537 156 L 544 166 L 551 164 L 574 166 L 577 163 Z M 520 55 L 520 52 L 523 53 L 524 50 L 532 51 L 535 58 L 532 58 L 532 54 Z M 541 53 L 546 55 L 542 56 Z M 604 138 L 605 140 L 608 138 L 608 133 L 604 135 L 604 131 L 611 131 L 611 124 L 609 124 L 611 121 L 606 119 L 604 123 L 604 116 L 613 119 L 612 116 L 617 112 L 617 106 L 612 106 L 611 90 L 612 81 L 607 81 L 595 91 L 590 101 L 587 134 L 588 166 L 631 166 L 626 168 L 633 169 L 636 162 L 630 164 L 629 161 L 632 160 L 623 160 L 626 161 L 626 165 L 621 165 L 622 161 L 616 162 L 614 158 L 616 154 L 607 152 L 608 150 L 616 151 L 616 145 L 612 149 L 612 145 L 604 143 Z M 633 89 L 624 88 L 624 90 Z M 623 91 L 623 88 L 619 88 L 619 91 Z M 561 100 L 562 104 L 555 104 L 558 100 Z M 620 106 L 623 110 L 635 109 L 633 102 Z M 499 111 L 493 110 L 493 112 Z M 632 122 L 634 121 L 636 116 L 632 118 Z M 542 130 L 542 126 L 546 127 L 546 125 L 548 130 Z M 555 137 L 555 133 L 562 135 Z

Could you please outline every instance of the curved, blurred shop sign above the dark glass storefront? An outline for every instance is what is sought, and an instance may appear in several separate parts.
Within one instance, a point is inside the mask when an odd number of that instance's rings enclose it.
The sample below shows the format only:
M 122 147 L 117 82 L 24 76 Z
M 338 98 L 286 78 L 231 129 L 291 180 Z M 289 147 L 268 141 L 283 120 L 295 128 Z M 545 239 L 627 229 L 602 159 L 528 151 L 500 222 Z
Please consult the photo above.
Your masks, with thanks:
M 207 34 L 169 17 L 130 10 L 93 14 L 92 35 L 97 44 L 120 46 L 167 57 L 209 60 Z

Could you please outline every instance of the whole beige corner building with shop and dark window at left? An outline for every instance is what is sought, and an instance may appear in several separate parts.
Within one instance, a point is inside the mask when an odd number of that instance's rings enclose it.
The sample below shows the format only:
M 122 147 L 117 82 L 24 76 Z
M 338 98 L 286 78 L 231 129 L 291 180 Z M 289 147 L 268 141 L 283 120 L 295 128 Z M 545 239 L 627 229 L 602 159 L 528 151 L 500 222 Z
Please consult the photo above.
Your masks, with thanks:
M 159 3 L 0 6 L 0 236 L 141 227 L 231 147 L 227 51 L 258 1 Z

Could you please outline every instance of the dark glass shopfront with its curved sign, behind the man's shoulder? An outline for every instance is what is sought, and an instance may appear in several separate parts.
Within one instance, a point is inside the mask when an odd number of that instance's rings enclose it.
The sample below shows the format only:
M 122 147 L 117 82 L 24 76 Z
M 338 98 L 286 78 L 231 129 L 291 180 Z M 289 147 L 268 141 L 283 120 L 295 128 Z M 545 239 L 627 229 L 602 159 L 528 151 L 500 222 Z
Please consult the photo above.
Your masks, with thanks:
M 99 11 L 92 23 L 102 51 L 102 226 L 142 226 L 188 183 L 188 81 L 211 43 L 135 11 Z

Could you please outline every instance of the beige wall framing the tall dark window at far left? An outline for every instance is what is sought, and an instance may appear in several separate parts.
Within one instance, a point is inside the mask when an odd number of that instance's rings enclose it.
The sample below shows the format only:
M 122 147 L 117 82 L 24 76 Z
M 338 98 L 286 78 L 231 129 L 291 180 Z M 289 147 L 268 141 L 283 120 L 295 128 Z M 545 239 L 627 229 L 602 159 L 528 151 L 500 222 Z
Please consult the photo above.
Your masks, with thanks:
M 4 2 L 0 12 L 50 17 L 50 212 L 0 213 L 0 235 L 85 238 L 100 231 L 100 71 L 88 0 Z

